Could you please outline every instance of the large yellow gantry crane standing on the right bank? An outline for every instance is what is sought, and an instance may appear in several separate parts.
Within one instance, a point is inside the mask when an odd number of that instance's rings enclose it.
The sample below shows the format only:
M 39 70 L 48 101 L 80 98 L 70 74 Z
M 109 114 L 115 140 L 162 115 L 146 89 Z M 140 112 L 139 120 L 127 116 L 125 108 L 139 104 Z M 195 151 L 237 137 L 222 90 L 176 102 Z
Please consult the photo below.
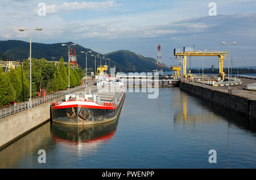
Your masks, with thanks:
M 190 47 L 188 47 L 190 48 Z M 187 56 L 198 56 L 198 57 L 204 57 L 204 56 L 217 56 L 218 57 L 218 67 L 219 67 L 219 77 L 224 80 L 225 73 L 223 72 L 223 60 L 226 59 L 226 52 L 225 51 L 219 51 L 219 50 L 195 50 L 195 49 L 188 49 L 186 51 L 186 48 L 183 48 L 183 51 L 180 49 L 174 49 L 174 55 L 176 58 L 182 57 L 183 58 L 183 76 L 187 77 Z

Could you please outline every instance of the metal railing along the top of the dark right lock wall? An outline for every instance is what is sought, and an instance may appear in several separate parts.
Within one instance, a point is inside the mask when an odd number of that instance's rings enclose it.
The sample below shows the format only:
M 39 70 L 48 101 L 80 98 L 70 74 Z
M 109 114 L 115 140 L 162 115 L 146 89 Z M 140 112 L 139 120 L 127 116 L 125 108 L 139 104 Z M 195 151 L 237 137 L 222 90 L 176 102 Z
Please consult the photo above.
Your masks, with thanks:
M 249 98 L 251 100 L 256 100 L 256 95 L 254 95 L 253 93 L 235 91 L 235 90 L 231 90 L 231 89 L 225 89 L 225 88 L 221 88 L 221 87 L 215 87 L 215 86 L 212 86 L 212 85 L 200 84 L 200 83 L 189 82 L 189 81 L 183 81 L 183 82 L 188 83 L 188 84 L 193 84 L 193 85 L 196 85 L 196 86 L 200 86 L 200 87 L 204 87 L 204 88 L 207 88 L 207 89 L 211 89 L 211 90 L 214 90 L 214 91 L 220 91 L 220 92 L 228 93 L 230 95 L 235 95 L 235 96 Z

